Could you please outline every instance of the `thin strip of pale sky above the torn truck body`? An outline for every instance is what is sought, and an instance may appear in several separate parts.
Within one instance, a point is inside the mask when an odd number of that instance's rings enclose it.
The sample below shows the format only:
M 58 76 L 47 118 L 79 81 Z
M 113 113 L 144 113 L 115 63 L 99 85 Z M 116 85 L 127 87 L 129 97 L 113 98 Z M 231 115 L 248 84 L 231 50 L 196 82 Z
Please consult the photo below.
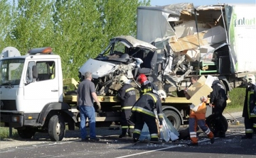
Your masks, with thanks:
M 256 0 L 151 0 L 151 6 L 165 6 L 169 4 L 193 3 L 193 6 L 208 4 L 256 4 Z

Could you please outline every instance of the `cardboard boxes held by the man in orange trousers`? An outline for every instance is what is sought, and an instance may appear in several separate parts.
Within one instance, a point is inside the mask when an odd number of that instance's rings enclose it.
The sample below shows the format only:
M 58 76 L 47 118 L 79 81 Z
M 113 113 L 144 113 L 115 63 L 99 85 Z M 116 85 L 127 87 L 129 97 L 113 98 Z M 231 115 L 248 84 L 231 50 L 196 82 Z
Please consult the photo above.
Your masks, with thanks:
M 209 78 L 208 78 L 209 77 Z M 213 91 L 211 85 L 213 84 L 213 77 L 208 75 L 206 77 L 201 76 L 198 81 L 188 88 L 189 99 L 193 105 L 198 106 L 201 104 L 201 97 L 208 96 Z

